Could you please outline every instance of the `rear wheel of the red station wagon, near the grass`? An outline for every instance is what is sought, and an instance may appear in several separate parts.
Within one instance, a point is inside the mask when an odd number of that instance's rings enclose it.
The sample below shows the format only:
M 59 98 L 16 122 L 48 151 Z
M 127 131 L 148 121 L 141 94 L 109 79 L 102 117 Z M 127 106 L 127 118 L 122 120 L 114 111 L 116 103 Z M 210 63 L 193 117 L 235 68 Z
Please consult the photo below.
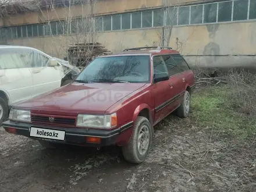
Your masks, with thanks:
M 189 101 L 189 104 L 187 104 Z M 176 114 L 179 118 L 187 118 L 190 113 L 191 97 L 189 91 L 185 91 L 182 99 L 182 104 L 177 108 Z M 187 108 L 188 107 L 188 108 Z

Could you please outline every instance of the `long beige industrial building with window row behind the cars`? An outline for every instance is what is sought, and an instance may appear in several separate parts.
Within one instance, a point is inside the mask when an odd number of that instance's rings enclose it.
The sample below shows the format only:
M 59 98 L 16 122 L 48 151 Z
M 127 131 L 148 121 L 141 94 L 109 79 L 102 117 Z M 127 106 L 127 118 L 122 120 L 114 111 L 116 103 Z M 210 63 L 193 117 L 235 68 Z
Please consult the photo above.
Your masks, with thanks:
M 97 41 L 112 52 L 165 45 L 204 65 L 256 61 L 256 0 L 40 2 L 33 11 L 0 18 L 0 43 L 61 58 L 70 44 Z

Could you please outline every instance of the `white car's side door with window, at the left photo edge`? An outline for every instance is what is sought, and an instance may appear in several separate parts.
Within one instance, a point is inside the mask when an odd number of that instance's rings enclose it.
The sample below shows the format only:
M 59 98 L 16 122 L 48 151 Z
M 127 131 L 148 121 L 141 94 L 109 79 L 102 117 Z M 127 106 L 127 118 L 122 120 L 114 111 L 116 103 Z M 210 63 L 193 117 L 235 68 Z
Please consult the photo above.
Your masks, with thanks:
M 6 48 L 0 51 L 0 90 L 9 95 L 10 105 L 30 99 L 33 91 L 32 76 L 24 62 L 29 54 L 22 48 Z

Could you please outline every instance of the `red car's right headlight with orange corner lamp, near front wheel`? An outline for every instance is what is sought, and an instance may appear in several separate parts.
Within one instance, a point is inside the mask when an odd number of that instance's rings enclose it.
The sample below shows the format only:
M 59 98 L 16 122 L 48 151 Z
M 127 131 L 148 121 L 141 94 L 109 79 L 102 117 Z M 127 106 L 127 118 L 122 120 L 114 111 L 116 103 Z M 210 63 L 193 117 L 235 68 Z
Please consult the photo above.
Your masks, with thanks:
M 118 125 L 116 113 L 111 115 L 83 115 L 79 114 L 76 120 L 77 127 L 95 127 L 111 129 Z

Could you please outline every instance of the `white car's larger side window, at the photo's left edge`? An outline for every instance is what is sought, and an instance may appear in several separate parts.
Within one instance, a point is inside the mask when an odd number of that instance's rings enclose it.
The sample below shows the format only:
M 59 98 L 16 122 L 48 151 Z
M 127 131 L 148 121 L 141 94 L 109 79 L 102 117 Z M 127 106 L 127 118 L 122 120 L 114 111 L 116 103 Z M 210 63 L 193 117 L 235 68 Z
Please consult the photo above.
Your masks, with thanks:
M 0 52 L 0 69 L 21 69 L 27 68 L 24 59 L 29 53 L 15 49 L 5 49 Z

